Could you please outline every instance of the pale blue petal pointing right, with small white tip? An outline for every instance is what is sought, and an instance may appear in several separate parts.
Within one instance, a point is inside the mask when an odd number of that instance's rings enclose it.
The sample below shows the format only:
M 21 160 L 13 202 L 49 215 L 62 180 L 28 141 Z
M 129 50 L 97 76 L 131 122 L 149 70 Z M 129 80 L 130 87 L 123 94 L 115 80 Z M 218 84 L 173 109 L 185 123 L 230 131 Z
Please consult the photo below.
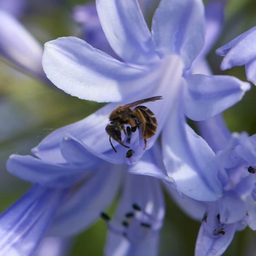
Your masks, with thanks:
M 185 115 L 195 121 L 205 120 L 230 108 L 251 88 L 248 82 L 230 76 L 196 74 L 185 80 Z

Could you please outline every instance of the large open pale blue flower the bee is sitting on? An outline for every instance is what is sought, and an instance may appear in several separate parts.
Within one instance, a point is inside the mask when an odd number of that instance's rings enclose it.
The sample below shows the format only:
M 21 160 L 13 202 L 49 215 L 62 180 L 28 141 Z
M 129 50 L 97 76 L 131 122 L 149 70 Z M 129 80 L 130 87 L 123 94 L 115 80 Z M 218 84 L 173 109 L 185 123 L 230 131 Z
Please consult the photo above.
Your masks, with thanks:
M 163 95 L 163 100 L 146 104 L 159 123 L 146 149 L 153 146 L 163 131 L 168 176 L 185 195 L 194 193 L 193 197 L 199 200 L 216 200 L 222 193 L 216 165 L 210 164 L 205 171 L 213 154 L 186 125 L 185 115 L 193 120 L 210 118 L 239 101 L 250 85 L 229 76 L 189 74 L 204 44 L 202 2 L 162 0 L 154 13 L 152 32 L 136 0 L 118 4 L 99 0 L 97 11 L 109 44 L 123 61 L 78 38 L 62 37 L 45 45 L 43 67 L 47 77 L 73 96 L 98 102 L 124 104 Z M 138 137 L 133 137 L 130 147 L 134 154 L 127 159 L 123 146 L 117 145 L 118 153 L 113 152 L 104 131 L 108 115 L 116 106 L 117 103 L 108 104 L 92 116 L 57 130 L 34 153 L 42 157 L 51 150 L 50 155 L 56 159 L 59 142 L 68 131 L 93 148 L 99 157 L 108 156 L 111 163 L 136 163 L 145 152 Z M 202 147 L 196 147 L 197 143 Z M 184 179 L 184 174 L 188 179 Z

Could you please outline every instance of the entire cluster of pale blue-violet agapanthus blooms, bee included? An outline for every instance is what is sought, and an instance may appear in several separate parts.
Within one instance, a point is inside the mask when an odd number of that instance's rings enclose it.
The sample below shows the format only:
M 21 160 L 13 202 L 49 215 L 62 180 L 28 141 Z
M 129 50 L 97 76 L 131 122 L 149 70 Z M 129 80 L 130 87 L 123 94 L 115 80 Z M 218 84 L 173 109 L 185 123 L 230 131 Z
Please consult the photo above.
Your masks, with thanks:
M 8 171 L 33 186 L 0 215 L 0 255 L 33 255 L 45 235 L 71 236 L 101 217 L 109 231 L 105 255 L 156 256 L 163 186 L 201 220 L 196 256 L 221 255 L 236 230 L 256 230 L 256 137 L 230 133 L 221 117 L 251 86 L 213 75 L 205 59 L 220 34 L 225 1 L 155 2 L 77 6 L 73 17 L 86 41 L 57 38 L 45 44 L 43 56 L 39 46 L 28 57 L 39 66 L 12 55 L 0 29 L 0 54 L 8 61 L 72 96 L 110 102 L 48 135 L 34 156 L 10 156 Z M 145 18 L 154 5 L 149 29 Z M 17 20 L 4 11 L 0 16 L 23 35 L 23 49 L 37 44 Z M 248 47 L 254 37 L 251 29 L 217 54 L 225 56 L 223 69 L 245 64 L 255 83 L 256 49 Z M 127 112 L 109 117 L 116 108 Z M 112 217 L 106 208 L 118 191 Z

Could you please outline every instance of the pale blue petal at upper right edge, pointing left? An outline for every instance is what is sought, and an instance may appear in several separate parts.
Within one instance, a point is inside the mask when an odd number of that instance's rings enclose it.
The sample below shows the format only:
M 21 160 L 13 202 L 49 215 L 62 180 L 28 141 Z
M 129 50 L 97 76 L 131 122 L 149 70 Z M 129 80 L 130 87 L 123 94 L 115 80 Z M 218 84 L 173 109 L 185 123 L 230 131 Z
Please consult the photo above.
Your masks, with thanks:
M 216 53 L 225 56 L 220 68 L 222 70 L 245 65 L 256 58 L 256 26 L 237 36 L 225 46 L 217 49 Z

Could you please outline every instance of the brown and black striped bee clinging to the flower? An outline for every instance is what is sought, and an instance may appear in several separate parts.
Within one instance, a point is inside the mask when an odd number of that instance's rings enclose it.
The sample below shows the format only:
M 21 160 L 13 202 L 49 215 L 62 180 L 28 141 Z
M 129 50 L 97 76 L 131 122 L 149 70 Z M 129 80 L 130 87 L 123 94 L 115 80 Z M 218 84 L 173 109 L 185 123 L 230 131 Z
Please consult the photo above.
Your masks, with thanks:
M 145 147 L 147 146 L 147 139 L 155 135 L 157 130 L 157 120 L 154 113 L 145 106 L 137 106 L 145 102 L 153 102 L 156 100 L 162 99 L 162 96 L 155 96 L 126 105 L 121 105 L 115 108 L 109 115 L 110 124 L 106 126 L 106 132 L 109 135 L 109 142 L 113 150 L 117 153 L 117 150 L 114 148 L 111 138 L 117 141 L 125 148 L 130 148 L 125 145 L 122 140 L 121 132 L 128 135 L 126 143 L 130 143 L 132 133 L 135 133 L 137 128 L 142 128 L 141 138 L 144 139 Z M 137 106 L 133 110 L 131 108 Z M 125 128 L 125 125 L 128 125 Z

